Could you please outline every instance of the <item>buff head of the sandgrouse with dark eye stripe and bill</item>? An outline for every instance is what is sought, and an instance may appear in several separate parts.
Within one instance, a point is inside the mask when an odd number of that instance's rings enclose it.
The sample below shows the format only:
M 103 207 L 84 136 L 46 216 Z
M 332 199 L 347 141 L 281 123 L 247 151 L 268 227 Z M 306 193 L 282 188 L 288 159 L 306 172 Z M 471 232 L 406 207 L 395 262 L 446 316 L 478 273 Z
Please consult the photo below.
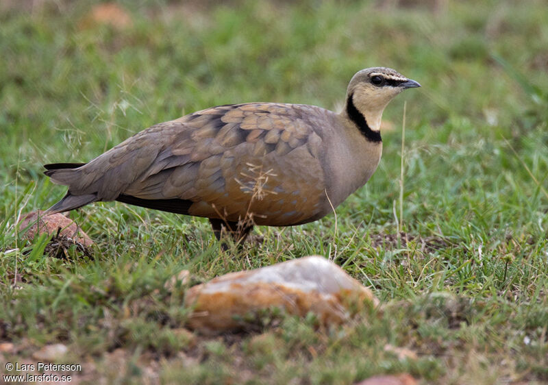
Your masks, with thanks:
M 373 131 L 378 131 L 382 112 L 390 100 L 406 88 L 421 84 L 386 67 L 362 69 L 352 77 L 347 89 L 347 108 L 352 103 Z M 345 111 L 347 110 L 345 109 Z

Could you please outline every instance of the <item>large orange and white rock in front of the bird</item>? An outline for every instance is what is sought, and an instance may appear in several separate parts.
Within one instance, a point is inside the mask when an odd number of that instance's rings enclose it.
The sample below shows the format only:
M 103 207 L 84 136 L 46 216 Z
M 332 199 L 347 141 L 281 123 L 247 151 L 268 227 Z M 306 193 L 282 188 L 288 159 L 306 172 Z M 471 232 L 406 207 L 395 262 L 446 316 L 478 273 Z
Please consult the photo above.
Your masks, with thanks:
M 188 327 L 206 334 L 245 329 L 242 316 L 269 308 L 314 312 L 323 325 L 343 323 L 367 302 L 378 304 L 369 289 L 319 256 L 229 273 L 190 288 L 185 297 L 186 306 L 195 306 Z

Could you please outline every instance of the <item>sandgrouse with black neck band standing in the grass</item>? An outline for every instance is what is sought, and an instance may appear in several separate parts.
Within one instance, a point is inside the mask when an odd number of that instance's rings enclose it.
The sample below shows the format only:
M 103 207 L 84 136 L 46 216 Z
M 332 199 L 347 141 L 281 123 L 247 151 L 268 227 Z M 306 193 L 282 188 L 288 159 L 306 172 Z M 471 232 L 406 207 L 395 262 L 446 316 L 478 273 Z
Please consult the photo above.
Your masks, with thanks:
M 46 164 L 69 186 L 49 213 L 121 201 L 210 220 L 245 239 L 253 225 L 320 219 L 373 175 L 388 102 L 420 87 L 393 69 L 354 75 L 340 114 L 314 105 L 219 105 L 159 123 L 88 163 Z

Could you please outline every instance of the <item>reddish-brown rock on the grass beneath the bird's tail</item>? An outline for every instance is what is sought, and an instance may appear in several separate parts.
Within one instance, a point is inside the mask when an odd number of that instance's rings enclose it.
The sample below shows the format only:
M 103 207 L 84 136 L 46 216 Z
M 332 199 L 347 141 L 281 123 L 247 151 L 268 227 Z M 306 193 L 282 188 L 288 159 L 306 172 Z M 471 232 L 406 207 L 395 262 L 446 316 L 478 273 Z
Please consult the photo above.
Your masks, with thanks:
M 27 228 L 28 227 L 28 228 Z M 63 214 L 45 215 L 43 211 L 29 212 L 19 222 L 19 229 L 25 231 L 25 237 L 33 239 L 36 234 L 56 235 L 71 238 L 86 247 L 93 245 L 91 238 L 76 223 Z

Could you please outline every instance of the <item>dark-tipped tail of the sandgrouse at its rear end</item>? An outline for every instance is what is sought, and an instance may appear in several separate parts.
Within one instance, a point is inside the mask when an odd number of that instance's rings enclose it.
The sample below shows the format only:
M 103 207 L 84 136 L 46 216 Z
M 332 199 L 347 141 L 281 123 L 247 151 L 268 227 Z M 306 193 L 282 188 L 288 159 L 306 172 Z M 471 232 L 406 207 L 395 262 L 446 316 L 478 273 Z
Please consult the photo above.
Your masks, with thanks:
M 51 178 L 51 181 L 56 184 L 70 185 L 74 180 L 76 169 L 84 166 L 85 163 L 53 163 L 45 164 L 45 175 Z M 57 212 L 65 212 L 81 208 L 88 203 L 97 201 L 97 194 L 72 195 L 71 191 L 55 203 L 51 208 L 46 210 L 47 214 L 55 214 Z

